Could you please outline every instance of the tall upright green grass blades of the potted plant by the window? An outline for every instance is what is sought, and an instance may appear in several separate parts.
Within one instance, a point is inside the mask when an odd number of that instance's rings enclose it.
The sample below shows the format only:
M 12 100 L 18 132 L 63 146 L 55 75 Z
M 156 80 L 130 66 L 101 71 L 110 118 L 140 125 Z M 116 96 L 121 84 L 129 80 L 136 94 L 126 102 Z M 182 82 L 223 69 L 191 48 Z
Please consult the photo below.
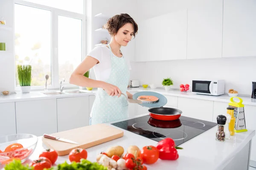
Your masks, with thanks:
M 19 78 L 20 86 L 31 85 L 31 65 L 17 65 L 17 73 Z

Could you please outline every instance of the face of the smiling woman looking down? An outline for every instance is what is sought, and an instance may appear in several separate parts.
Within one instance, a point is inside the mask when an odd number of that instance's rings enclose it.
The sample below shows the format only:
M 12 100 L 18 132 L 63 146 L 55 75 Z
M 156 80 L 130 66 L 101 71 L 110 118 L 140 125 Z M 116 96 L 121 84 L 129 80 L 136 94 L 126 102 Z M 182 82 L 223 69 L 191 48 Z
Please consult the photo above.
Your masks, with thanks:
M 115 35 L 115 40 L 122 46 L 126 46 L 128 42 L 132 39 L 132 34 L 134 33 L 134 28 L 131 23 L 126 23 L 122 26 Z

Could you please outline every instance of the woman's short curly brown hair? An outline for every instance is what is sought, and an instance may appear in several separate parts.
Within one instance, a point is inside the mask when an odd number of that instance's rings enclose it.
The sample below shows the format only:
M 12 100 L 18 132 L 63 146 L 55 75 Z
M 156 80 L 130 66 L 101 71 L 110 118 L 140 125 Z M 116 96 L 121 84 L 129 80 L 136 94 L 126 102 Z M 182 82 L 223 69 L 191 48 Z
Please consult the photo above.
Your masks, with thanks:
M 134 33 L 132 35 L 135 37 L 135 34 L 137 34 L 137 31 L 138 31 L 138 25 L 137 23 L 135 23 L 132 17 L 128 14 L 115 15 L 108 20 L 106 25 L 107 25 L 109 34 L 111 34 L 111 36 L 115 35 L 117 31 L 126 23 L 131 23 L 133 25 Z

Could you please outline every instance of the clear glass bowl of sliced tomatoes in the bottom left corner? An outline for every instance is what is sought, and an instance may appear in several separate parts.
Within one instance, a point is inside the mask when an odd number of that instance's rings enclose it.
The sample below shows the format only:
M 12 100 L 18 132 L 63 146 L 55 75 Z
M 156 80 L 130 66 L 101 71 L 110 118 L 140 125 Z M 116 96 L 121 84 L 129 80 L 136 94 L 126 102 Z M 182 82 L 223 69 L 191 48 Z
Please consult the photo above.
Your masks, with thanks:
M 2 151 L 2 153 L 0 151 L 0 157 L 2 156 L 0 165 L 8 164 L 13 159 L 18 159 L 21 163 L 25 162 L 34 152 L 37 142 L 37 136 L 26 133 L 0 136 L 0 150 Z M 20 144 L 22 147 L 17 147 L 20 146 Z M 9 148 L 12 146 L 12 151 L 5 152 L 8 146 Z M 8 159 L 8 157 L 4 158 L 3 156 L 9 156 L 10 159 Z

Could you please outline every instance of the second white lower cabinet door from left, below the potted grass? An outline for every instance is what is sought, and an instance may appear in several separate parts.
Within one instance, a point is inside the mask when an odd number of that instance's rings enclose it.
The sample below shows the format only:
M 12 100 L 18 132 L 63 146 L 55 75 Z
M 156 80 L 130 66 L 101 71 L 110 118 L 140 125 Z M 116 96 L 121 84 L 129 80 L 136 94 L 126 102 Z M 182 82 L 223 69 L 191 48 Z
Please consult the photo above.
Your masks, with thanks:
M 57 132 L 56 99 L 15 102 L 17 133 L 41 136 Z

